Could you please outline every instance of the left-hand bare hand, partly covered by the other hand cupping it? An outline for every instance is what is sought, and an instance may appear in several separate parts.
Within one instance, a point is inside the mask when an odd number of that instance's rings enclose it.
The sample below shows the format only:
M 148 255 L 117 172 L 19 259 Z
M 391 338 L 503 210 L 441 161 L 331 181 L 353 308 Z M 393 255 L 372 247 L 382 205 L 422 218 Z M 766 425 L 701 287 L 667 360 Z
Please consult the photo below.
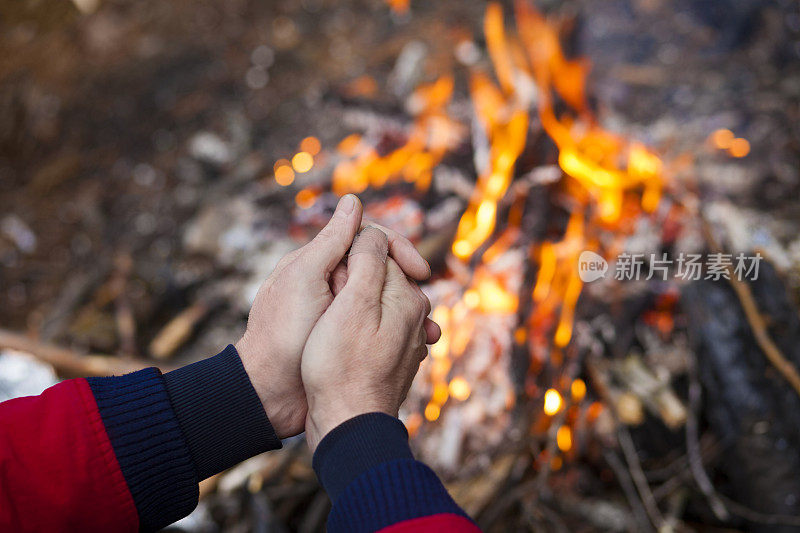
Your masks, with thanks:
M 303 431 L 307 405 L 300 355 L 314 324 L 333 301 L 332 286 L 346 279 L 341 262 L 359 230 L 361 215 L 358 198 L 342 197 L 314 240 L 281 259 L 259 289 L 247 330 L 236 343 L 280 438 Z M 397 233 L 387 230 L 387 234 L 392 256 L 403 270 L 415 279 L 427 279 L 430 267 L 414 245 Z M 338 273 L 332 278 L 334 271 Z

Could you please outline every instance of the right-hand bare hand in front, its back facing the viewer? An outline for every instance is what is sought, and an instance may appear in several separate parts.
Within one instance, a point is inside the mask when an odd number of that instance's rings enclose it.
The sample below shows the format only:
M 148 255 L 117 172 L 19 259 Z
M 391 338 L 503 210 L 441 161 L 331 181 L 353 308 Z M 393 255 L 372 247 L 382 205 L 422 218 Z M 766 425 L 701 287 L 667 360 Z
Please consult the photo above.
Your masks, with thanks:
M 337 292 L 306 341 L 301 362 L 308 398 L 306 440 L 312 450 L 356 415 L 397 416 L 427 343 L 438 326 L 430 302 L 391 257 L 387 235 L 367 227 L 350 250 Z

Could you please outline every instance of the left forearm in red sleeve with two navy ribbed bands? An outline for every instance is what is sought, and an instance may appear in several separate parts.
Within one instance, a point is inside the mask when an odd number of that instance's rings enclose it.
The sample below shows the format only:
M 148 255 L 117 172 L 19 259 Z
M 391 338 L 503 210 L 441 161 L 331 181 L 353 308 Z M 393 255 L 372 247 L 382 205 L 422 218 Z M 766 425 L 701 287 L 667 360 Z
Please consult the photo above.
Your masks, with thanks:
M 67 381 L 0 404 L 0 422 L 3 530 L 160 529 L 199 481 L 280 447 L 232 346 L 166 375 Z

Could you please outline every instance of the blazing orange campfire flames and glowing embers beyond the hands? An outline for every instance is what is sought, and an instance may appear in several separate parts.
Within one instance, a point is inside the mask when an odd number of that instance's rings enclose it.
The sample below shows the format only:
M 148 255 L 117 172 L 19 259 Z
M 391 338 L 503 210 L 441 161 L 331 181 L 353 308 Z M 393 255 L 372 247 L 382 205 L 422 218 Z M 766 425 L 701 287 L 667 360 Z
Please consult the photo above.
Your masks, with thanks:
M 453 191 L 466 208 L 448 249 L 428 252 L 441 264 L 424 290 L 442 339 L 432 346 L 404 414 L 412 435 L 421 434 L 432 459 L 449 469 L 460 465 L 462 441 L 473 428 L 502 428 L 493 432 L 496 442 L 479 440 L 473 451 L 497 446 L 517 401 L 539 406 L 530 424 L 534 434 L 552 429 L 556 435 L 558 450 L 539 453 L 539 468 L 576 456 L 570 453 L 576 425 L 594 423 L 604 409 L 586 398 L 586 385 L 575 376 L 582 373 L 571 345 L 583 291 L 578 257 L 587 250 L 610 256 L 641 217 L 656 216 L 667 181 L 653 150 L 600 125 L 586 101 L 589 64 L 565 56 L 557 25 L 525 1 L 514 14 L 516 25 L 508 29 L 502 7 L 488 4 L 490 61 L 469 69 L 466 120 L 449 112 L 455 76 L 442 73 L 407 98 L 407 125 L 370 122 L 330 153 L 319 153 L 309 137 L 291 162 L 275 163 L 282 186 L 311 170 L 318 156 L 333 167 L 330 188 L 337 195 L 390 190 L 386 200 L 369 196 L 367 212 L 404 230 L 426 225 L 422 210 L 398 219 L 396 211 L 412 209 L 406 198 L 441 202 L 434 176 L 446 181 L 448 156 L 471 152 L 474 185 L 469 169 Z M 536 152 L 547 149 L 557 153 L 560 169 L 537 160 Z M 298 208 L 312 208 L 323 187 L 298 191 Z M 530 200 L 535 195 L 558 206 L 562 220 L 539 218 L 539 204 Z M 428 217 L 435 215 L 434 209 Z M 413 233 L 425 243 L 416 228 Z M 530 359 L 525 375 L 509 375 L 514 352 Z

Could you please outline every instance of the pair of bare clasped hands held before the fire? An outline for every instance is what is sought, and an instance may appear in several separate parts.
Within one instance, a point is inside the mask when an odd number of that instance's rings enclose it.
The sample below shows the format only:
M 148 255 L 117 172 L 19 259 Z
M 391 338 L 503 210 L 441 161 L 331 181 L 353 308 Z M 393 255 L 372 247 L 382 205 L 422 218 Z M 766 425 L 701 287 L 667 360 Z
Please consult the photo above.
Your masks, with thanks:
M 236 343 L 278 436 L 305 429 L 312 450 L 354 416 L 397 416 L 441 334 L 414 281 L 430 277 L 428 263 L 399 234 L 361 229 L 362 212 L 342 197 L 319 234 L 281 259 Z

